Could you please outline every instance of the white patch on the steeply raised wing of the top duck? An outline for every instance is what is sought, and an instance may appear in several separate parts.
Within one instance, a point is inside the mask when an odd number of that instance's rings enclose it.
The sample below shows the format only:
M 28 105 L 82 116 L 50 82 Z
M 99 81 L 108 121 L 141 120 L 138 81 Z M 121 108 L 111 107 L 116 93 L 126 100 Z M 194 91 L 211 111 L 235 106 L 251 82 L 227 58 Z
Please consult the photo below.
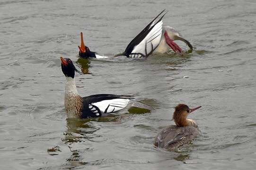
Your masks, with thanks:
M 135 53 L 136 54 L 143 54 L 144 56 L 147 56 L 151 51 L 155 50 L 156 47 L 159 45 L 159 42 L 161 40 L 162 36 L 162 26 L 163 26 L 163 21 L 160 21 L 157 23 L 147 34 L 147 36 L 138 44 L 134 47 L 132 50 L 131 57 L 135 58 Z

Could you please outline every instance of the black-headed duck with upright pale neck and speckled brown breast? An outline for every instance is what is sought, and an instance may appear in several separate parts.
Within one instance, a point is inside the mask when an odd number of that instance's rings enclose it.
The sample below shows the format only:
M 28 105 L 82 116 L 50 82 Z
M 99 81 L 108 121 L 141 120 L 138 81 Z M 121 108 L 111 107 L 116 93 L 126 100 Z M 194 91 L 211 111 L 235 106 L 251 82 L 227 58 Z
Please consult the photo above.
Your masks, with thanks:
M 66 76 L 65 110 L 68 118 L 96 118 L 129 106 L 151 110 L 150 106 L 132 100 L 129 95 L 96 94 L 81 97 L 76 88 L 75 72 L 79 72 L 71 59 L 62 58 L 62 72 Z M 79 72 L 80 73 L 80 72 Z

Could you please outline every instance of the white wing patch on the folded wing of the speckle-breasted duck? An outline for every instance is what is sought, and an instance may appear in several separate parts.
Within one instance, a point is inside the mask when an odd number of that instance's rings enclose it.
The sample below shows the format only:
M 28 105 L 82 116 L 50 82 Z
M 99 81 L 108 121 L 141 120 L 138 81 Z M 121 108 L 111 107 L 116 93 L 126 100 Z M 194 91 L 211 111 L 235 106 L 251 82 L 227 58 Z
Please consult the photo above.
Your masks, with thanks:
M 97 106 L 102 113 L 113 113 L 124 109 L 128 105 L 129 101 L 129 99 L 111 99 L 95 102 L 92 103 L 92 105 Z

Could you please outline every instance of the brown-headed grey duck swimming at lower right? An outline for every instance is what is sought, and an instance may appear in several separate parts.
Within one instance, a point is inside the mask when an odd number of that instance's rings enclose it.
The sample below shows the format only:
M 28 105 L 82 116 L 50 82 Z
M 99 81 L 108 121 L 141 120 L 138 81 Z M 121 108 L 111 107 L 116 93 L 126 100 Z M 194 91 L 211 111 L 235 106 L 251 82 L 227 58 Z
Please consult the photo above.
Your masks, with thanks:
M 200 131 L 194 120 L 186 119 L 188 114 L 201 108 L 198 106 L 194 109 L 189 109 L 185 104 L 178 104 L 173 113 L 173 119 L 176 125 L 170 125 L 163 129 L 156 138 L 155 146 L 174 151 L 184 144 L 188 144 Z

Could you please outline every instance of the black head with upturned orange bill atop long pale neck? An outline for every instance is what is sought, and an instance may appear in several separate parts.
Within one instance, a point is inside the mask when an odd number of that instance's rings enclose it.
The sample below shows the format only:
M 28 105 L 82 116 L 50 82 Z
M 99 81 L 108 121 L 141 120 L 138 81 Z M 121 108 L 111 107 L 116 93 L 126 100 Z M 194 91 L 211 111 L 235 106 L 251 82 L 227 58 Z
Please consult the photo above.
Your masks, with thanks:
M 69 58 L 62 58 L 62 72 L 66 77 L 75 77 L 75 72 L 80 73 L 74 66 L 73 62 Z

